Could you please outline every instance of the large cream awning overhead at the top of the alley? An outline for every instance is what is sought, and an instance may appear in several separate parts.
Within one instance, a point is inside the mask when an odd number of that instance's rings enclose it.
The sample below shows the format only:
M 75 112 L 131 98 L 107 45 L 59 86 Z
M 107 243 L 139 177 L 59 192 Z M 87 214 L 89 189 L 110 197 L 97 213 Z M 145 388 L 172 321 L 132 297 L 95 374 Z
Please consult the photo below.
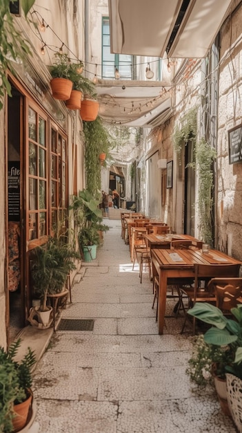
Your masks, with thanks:
M 112 53 L 205 57 L 231 0 L 109 0 Z M 165 55 L 165 56 L 164 56 Z

